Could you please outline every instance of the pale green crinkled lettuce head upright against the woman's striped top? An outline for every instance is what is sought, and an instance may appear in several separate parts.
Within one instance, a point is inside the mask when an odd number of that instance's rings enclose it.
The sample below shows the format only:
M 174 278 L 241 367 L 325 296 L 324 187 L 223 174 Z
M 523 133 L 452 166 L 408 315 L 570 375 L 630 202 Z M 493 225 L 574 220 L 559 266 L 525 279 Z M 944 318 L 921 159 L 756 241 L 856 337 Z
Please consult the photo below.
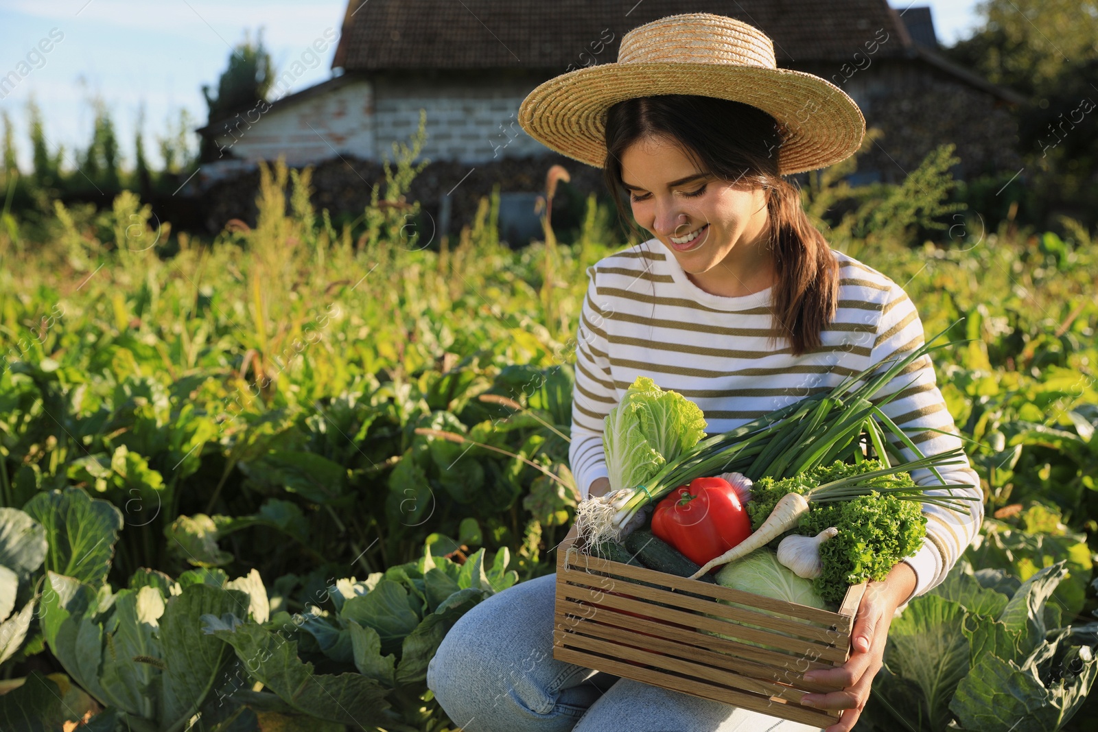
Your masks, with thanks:
M 610 489 L 647 483 L 705 436 L 702 409 L 682 394 L 637 376 L 603 420 Z

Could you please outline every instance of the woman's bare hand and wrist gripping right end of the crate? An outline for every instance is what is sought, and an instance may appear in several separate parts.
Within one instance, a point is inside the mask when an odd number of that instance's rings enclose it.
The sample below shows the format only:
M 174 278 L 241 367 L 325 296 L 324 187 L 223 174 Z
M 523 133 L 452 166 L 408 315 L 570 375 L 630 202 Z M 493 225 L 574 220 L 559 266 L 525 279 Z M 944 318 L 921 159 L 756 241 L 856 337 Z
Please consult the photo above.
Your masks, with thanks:
M 842 718 L 826 732 L 850 732 L 870 700 L 870 685 L 881 669 L 896 608 L 906 603 L 915 590 L 915 571 L 898 563 L 882 582 L 871 582 L 858 606 L 851 633 L 850 658 L 834 668 L 817 668 L 805 674 L 806 682 L 818 682 L 841 688 L 829 694 L 806 694 L 802 703 L 817 709 L 844 709 Z

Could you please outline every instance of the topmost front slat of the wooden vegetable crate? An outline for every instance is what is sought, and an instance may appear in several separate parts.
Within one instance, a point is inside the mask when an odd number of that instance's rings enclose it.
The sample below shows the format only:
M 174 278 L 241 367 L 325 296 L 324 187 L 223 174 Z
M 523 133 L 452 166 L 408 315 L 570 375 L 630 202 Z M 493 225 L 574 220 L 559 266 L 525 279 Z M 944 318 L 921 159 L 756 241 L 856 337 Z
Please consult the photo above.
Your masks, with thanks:
M 811 620 L 814 622 L 820 622 L 828 626 L 834 626 L 841 620 L 841 616 L 838 612 L 831 612 L 830 610 L 821 610 L 819 608 L 799 605 L 797 603 L 786 603 L 785 600 L 778 600 L 773 597 L 763 597 L 762 595 L 754 595 L 752 593 L 744 593 L 739 589 L 732 589 L 731 587 L 710 585 L 709 583 L 702 582 L 701 579 L 688 579 L 686 577 L 668 574 L 666 572 L 649 570 L 648 567 L 612 562 L 609 560 L 581 554 L 579 551 L 574 550 L 569 553 L 565 552 L 564 549 L 565 545 L 562 543 L 558 558 L 560 560 L 558 562 L 558 574 L 567 574 L 570 572 L 592 574 L 595 572 L 602 572 L 618 577 L 649 582 L 653 585 L 671 587 L 694 595 L 703 595 L 712 599 L 728 600 L 738 605 L 757 607 L 772 612 L 781 612 L 782 615 L 803 618 L 805 620 Z M 848 596 L 850 595 L 849 589 L 847 590 L 847 594 Z

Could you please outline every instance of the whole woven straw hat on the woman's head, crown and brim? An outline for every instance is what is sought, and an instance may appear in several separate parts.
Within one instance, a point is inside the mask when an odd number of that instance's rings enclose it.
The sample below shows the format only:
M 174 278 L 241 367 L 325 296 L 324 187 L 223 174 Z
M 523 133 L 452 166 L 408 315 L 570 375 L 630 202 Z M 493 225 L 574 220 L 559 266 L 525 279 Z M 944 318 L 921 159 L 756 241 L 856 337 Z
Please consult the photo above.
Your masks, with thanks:
M 618 59 L 569 71 L 531 91 L 518 123 L 546 147 L 590 166 L 606 159 L 606 110 L 634 97 L 698 94 L 751 104 L 782 131 L 782 174 L 852 155 L 865 119 L 845 92 L 811 74 L 780 69 L 753 25 L 712 13 L 669 15 L 624 36 Z

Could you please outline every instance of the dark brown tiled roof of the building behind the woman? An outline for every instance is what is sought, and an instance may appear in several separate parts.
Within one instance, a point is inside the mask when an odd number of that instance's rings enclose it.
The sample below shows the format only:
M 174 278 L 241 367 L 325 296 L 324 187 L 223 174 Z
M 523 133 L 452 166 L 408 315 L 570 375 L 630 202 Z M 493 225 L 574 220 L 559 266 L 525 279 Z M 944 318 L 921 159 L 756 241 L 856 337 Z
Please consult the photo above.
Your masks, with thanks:
M 850 60 L 885 37 L 875 56 L 907 57 L 911 40 L 886 0 L 349 0 L 333 67 L 537 68 L 563 71 L 617 59 L 629 30 L 685 12 L 728 15 L 774 41 L 778 66 Z M 610 37 L 604 49 L 602 38 Z M 581 57 L 581 54 L 586 56 Z

